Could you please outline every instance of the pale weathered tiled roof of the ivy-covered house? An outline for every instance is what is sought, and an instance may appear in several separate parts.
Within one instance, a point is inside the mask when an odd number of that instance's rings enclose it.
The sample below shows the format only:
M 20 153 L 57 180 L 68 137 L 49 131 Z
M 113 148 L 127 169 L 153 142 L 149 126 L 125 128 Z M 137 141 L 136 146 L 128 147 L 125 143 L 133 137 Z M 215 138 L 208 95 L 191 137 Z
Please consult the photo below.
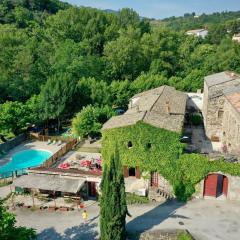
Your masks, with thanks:
M 112 117 L 103 130 L 126 127 L 143 121 L 154 127 L 181 132 L 187 95 L 173 87 L 161 86 L 134 95 L 125 114 Z

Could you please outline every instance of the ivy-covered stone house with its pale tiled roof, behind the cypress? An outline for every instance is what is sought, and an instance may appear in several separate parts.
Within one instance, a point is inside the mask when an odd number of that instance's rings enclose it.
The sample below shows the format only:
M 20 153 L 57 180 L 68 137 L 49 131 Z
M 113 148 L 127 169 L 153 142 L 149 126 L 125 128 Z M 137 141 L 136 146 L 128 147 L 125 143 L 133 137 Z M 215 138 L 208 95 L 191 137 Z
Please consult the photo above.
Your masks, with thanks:
M 112 117 L 103 126 L 103 157 L 117 142 L 124 165 L 126 189 L 145 191 L 150 186 L 172 187 L 159 173 L 168 172 L 166 165 L 175 164 L 182 151 L 179 141 L 186 113 L 187 95 L 173 87 L 161 86 L 130 99 L 125 114 Z M 145 190 L 144 190 L 145 189 Z

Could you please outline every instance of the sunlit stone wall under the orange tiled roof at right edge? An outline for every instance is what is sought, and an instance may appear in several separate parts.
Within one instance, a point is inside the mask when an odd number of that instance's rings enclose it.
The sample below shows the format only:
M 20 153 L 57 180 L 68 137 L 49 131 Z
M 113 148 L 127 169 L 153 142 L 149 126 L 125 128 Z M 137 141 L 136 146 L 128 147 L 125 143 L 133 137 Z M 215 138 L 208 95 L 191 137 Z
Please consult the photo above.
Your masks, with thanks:
M 227 152 L 240 156 L 240 114 L 228 101 L 224 105 L 222 131 Z

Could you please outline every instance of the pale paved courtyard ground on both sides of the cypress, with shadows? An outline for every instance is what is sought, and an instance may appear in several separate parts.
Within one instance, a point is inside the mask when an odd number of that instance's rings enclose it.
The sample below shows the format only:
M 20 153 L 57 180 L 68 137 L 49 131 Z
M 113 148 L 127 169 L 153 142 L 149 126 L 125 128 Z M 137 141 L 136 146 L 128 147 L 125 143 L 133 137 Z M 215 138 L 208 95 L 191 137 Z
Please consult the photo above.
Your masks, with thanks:
M 31 212 L 18 210 L 19 225 L 34 227 L 39 240 L 98 239 L 99 206 L 87 208 L 89 222 L 84 224 L 80 212 Z M 129 231 L 188 229 L 197 240 L 238 240 L 240 203 L 233 201 L 193 200 L 187 204 L 134 205 L 127 217 Z

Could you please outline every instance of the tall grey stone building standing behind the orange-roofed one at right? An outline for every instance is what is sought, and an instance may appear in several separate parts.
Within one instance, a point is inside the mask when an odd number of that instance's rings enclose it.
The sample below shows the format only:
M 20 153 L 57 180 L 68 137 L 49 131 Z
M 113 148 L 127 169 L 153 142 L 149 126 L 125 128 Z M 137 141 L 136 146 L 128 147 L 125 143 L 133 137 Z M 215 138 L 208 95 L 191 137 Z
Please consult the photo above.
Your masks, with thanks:
M 224 90 L 240 86 L 240 77 L 233 72 L 221 72 L 205 77 L 203 118 L 206 136 L 219 142 L 223 136 Z

